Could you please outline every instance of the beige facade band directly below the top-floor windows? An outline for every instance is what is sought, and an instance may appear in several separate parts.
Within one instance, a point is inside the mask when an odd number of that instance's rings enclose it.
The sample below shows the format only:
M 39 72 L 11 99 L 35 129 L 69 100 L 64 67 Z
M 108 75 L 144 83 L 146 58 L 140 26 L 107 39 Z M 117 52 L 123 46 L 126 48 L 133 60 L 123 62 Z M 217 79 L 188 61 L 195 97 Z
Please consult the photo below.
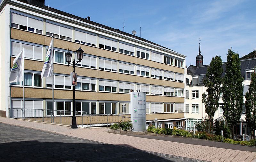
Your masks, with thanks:
M 51 42 L 51 37 L 49 36 L 44 36 L 41 34 L 27 32 L 27 31 L 15 29 L 15 28 L 11 28 L 11 38 L 17 39 L 17 40 L 23 40 L 31 43 L 41 44 L 45 46 L 49 46 Z M 117 53 L 117 52 L 104 50 L 104 49 L 100 49 L 92 46 L 81 45 L 81 44 L 70 42 L 63 39 L 54 38 L 54 47 L 56 48 L 61 48 L 66 50 L 69 49 L 70 51 L 76 51 L 79 48 L 79 46 L 81 46 L 81 48 L 84 50 L 84 53 L 87 53 L 87 54 L 92 54 L 95 56 L 105 57 L 105 58 L 114 59 L 114 60 L 120 60 L 120 61 L 129 62 L 133 64 L 138 64 L 138 65 L 143 65 L 143 66 L 148 66 L 148 67 L 153 67 L 153 68 L 158 68 L 158 69 L 163 69 L 163 70 L 184 74 L 184 68 L 174 67 L 174 66 L 163 64 L 163 63 L 141 59 L 138 57 L 133 57 L 133 56 L 122 54 L 122 53 Z

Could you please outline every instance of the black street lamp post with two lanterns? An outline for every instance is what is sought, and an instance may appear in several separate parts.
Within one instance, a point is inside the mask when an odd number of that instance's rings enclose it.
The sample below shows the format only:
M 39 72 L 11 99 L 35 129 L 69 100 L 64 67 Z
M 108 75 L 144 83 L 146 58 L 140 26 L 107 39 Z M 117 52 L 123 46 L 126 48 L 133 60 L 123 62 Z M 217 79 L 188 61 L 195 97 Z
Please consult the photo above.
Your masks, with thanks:
M 72 58 L 72 53 L 69 52 L 69 49 L 68 49 L 68 52 L 65 53 L 65 57 L 66 57 L 66 62 L 68 63 L 68 65 L 72 65 L 73 66 L 73 72 L 75 73 L 75 67 L 76 67 L 76 64 L 83 59 L 83 53 L 84 51 L 81 49 L 81 46 L 79 47 L 78 50 L 76 50 L 76 54 L 77 54 L 77 60 L 78 61 L 75 61 L 75 57 L 74 57 L 74 60 L 73 62 L 71 63 L 71 58 Z M 73 85 L 73 116 L 72 116 L 72 125 L 71 125 L 71 128 L 78 128 L 77 125 L 76 125 L 76 113 L 75 113 L 75 85 Z

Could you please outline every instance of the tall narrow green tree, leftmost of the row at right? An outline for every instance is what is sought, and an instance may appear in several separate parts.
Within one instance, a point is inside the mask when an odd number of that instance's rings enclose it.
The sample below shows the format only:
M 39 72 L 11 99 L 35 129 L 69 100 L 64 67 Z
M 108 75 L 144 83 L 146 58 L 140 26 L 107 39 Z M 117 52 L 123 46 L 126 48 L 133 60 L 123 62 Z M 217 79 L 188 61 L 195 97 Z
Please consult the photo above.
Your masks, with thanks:
M 220 56 L 212 58 L 210 67 L 207 69 L 206 79 L 204 85 L 207 87 L 206 92 L 203 93 L 202 102 L 205 105 L 205 113 L 209 116 L 209 131 L 211 130 L 211 121 L 219 107 L 220 99 L 220 85 L 222 83 L 221 74 L 223 72 L 222 60 Z

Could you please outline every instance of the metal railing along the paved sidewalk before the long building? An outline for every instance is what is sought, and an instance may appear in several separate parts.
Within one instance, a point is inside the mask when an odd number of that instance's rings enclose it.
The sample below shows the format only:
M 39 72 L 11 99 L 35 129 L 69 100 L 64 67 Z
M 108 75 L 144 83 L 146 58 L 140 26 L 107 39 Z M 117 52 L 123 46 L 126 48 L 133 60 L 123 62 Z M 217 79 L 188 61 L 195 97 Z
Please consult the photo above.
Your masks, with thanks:
M 109 126 L 112 123 L 130 121 L 128 116 L 113 114 L 87 114 L 86 111 L 75 111 L 76 124 L 82 127 Z M 8 117 L 46 123 L 72 125 L 73 111 L 49 109 L 8 108 Z

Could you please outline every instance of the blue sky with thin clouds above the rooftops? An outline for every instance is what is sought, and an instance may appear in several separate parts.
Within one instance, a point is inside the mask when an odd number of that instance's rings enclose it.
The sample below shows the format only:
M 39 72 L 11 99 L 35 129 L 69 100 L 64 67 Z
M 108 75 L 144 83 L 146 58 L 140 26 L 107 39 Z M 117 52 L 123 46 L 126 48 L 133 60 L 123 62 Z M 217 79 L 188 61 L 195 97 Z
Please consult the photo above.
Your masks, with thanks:
M 186 55 L 196 64 L 201 38 L 204 64 L 215 55 L 227 60 L 228 49 L 240 57 L 256 50 L 256 2 L 216 1 L 84 1 L 45 0 L 45 5 L 132 33 Z

